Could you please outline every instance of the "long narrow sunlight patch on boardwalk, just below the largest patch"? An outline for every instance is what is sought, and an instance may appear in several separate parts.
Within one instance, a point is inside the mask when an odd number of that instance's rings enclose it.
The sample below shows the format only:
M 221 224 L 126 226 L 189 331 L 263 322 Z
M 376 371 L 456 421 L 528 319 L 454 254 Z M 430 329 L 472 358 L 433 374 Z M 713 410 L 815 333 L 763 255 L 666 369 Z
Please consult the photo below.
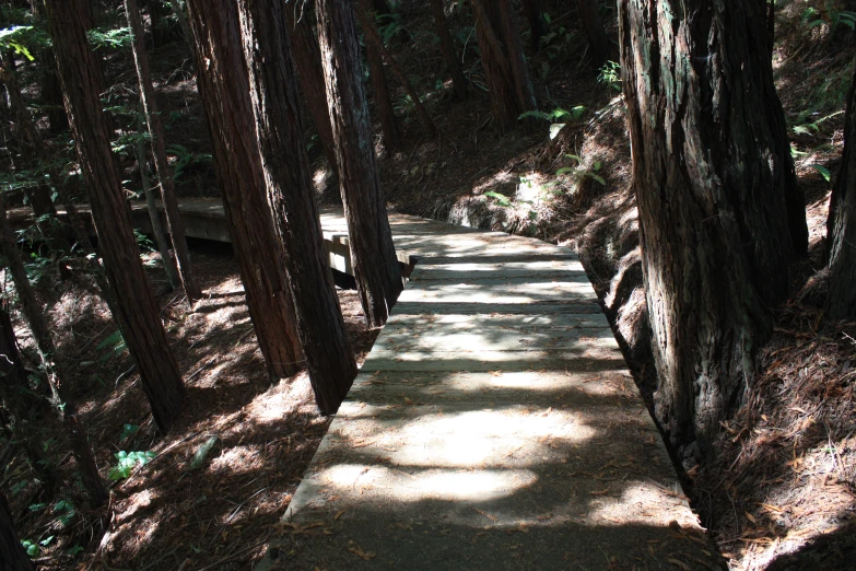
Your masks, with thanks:
M 520 469 L 431 469 L 409 474 L 364 464 L 332 466 L 316 477 L 328 492 L 360 502 L 485 502 L 507 498 L 538 480 L 530 470 Z

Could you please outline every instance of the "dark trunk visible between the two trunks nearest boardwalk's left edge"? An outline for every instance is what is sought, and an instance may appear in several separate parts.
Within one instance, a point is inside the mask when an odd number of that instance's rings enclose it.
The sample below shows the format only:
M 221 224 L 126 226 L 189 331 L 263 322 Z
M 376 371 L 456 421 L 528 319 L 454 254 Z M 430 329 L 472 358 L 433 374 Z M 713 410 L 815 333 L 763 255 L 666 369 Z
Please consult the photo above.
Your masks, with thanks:
M 324 69 L 321 68 L 321 49 L 315 37 L 309 14 L 301 11 L 304 5 L 292 2 L 285 5 L 289 40 L 301 78 L 301 88 L 306 97 L 315 129 L 321 141 L 324 155 L 330 167 L 336 171 L 336 143 L 330 127 L 330 112 L 327 109 L 327 89 L 324 86 Z

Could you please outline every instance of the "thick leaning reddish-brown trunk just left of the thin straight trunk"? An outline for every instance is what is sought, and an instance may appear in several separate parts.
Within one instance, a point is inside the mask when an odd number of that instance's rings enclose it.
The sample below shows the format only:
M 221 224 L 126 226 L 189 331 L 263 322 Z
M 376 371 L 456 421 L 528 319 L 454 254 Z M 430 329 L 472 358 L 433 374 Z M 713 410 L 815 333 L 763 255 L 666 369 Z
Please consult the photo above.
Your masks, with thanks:
M 86 42 L 84 0 L 47 0 L 47 14 L 66 93 L 66 110 L 86 180 L 92 218 L 116 295 L 114 318 L 140 370 L 157 428 L 172 427 L 185 400 L 178 364 L 140 260 L 110 132 L 101 108 L 99 74 Z

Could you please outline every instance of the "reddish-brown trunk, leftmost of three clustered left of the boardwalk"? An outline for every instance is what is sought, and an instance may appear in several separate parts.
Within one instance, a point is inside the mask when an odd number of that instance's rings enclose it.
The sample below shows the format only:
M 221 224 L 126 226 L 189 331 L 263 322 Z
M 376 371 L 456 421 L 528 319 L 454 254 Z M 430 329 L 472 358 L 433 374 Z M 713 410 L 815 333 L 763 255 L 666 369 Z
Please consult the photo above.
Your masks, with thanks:
M 254 137 L 253 103 L 234 0 L 188 0 L 199 71 L 228 232 L 241 265 L 247 305 L 272 378 L 301 369 L 303 352 L 285 253 L 273 231 Z

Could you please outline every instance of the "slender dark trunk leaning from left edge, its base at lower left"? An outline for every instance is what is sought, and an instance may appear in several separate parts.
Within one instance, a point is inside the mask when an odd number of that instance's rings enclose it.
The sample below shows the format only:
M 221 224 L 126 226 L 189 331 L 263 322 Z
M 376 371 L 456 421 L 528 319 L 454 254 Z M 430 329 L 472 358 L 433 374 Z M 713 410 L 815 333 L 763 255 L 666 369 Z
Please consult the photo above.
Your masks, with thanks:
M 0 242 L 2 242 L 2 252 L 9 272 L 12 275 L 12 280 L 15 284 L 21 310 L 30 324 L 30 329 L 33 331 L 33 339 L 35 339 L 38 353 L 42 357 L 45 373 L 48 376 L 55 397 L 58 399 L 56 405 L 62 411 L 62 420 L 66 423 L 72 451 L 78 461 L 78 470 L 83 488 L 86 490 L 92 504 L 98 506 L 107 500 L 107 489 L 98 475 L 98 467 L 92 453 L 92 446 L 90 446 L 86 438 L 83 420 L 78 417 L 77 405 L 69 397 L 67 388 L 69 376 L 59 362 L 50 329 L 48 329 L 42 307 L 36 301 L 26 277 L 24 263 L 21 259 L 21 253 L 17 250 L 12 225 L 9 223 L 5 203 L 2 198 L 0 198 Z

